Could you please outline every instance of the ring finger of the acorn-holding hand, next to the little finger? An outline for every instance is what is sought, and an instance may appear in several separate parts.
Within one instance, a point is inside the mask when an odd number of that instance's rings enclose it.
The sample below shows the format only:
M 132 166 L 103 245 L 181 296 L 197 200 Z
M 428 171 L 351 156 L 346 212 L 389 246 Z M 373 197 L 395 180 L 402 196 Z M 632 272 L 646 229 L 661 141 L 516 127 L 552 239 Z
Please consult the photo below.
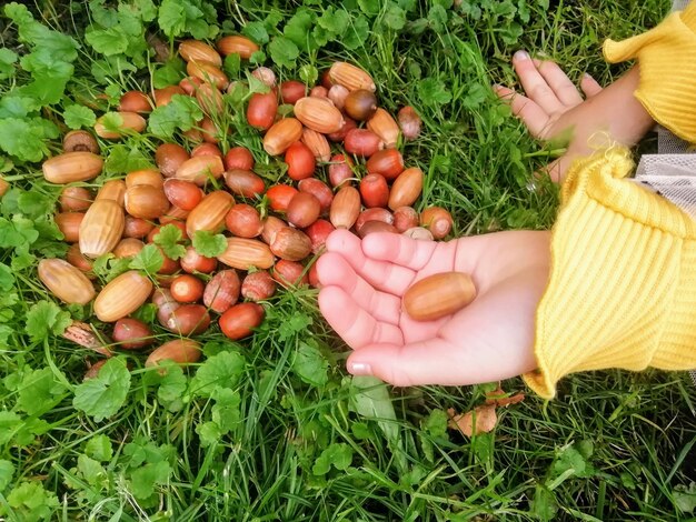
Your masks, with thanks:
M 358 237 L 347 230 L 331 232 L 326 240 L 326 248 L 329 252 L 342 255 L 356 273 L 377 290 L 397 297 L 404 295 L 404 292 L 406 292 L 406 289 L 416 277 L 416 273 L 406 267 L 367 258 L 362 253 L 361 242 Z

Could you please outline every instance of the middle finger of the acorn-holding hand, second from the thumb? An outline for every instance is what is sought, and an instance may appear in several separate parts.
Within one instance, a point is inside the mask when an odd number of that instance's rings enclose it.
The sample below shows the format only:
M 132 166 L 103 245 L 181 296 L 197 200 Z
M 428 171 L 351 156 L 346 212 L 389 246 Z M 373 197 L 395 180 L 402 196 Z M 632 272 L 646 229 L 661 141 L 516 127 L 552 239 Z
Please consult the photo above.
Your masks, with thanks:
M 340 254 L 327 252 L 317 262 L 319 281 L 324 287 L 338 287 L 378 321 L 399 323 L 401 300 L 390 293 L 375 290 L 360 278 Z

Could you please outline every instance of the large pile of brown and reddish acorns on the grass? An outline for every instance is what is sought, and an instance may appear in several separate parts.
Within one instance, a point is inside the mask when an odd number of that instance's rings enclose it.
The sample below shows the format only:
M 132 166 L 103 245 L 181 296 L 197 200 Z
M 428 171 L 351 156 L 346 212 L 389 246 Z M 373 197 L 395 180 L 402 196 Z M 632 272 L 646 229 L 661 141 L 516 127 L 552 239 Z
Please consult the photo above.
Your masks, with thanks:
M 183 41 L 179 54 L 187 61 L 187 78 L 152 96 L 126 92 L 118 108 L 120 127 L 113 128 L 113 117 L 110 127 L 103 117 L 95 126 L 103 140 L 122 139 L 145 131 L 155 107 L 175 96 L 193 97 L 206 117 L 182 133 L 190 152 L 179 143 L 162 143 L 155 154 L 157 168 L 109 180 L 96 194 L 84 182 L 101 173 L 103 159 L 90 132 L 69 132 L 64 152 L 43 163 L 46 180 L 66 185 L 56 222 L 71 247 L 66 260 L 42 260 L 39 278 L 66 303 L 93 301 L 97 319 L 113 323 L 113 342 L 96 341 L 92 328 L 77 322 L 69 339 L 107 354 L 110 348 L 148 347 L 155 342 L 152 329 L 131 314 L 150 300 L 159 323 L 178 339 L 152 351 L 146 364 L 196 361 L 200 347 L 187 338 L 205 332 L 213 318 L 225 335 L 242 339 L 262 322 L 264 305 L 278 284 L 318 285 L 314 261 L 336 228 L 361 238 L 387 231 L 439 240 L 449 233 L 447 210 L 415 210 L 424 173 L 407 168 L 397 148 L 418 137 L 419 117 L 405 107 L 397 123 L 378 107 L 374 80 L 354 64 L 334 63 L 321 84 L 312 87 L 296 80 L 277 86 L 274 71 L 265 67 L 252 72 L 268 92 L 249 97 L 246 119 L 264 133 L 265 151 L 287 163 L 285 183 L 268 187 L 253 171 L 250 150 L 220 150 L 219 143 L 229 141 L 222 139 L 229 129 L 216 123 L 230 110 L 223 93 L 238 84 L 222 71 L 222 56 L 236 52 L 248 59 L 257 50 L 238 36 L 219 40 L 217 50 Z M 281 106 L 291 110 L 279 110 Z M 182 257 L 163 255 L 156 278 L 128 270 L 97 291 L 97 258 L 133 257 L 169 225 L 180 231 Z M 191 244 L 199 231 L 225 234 L 227 249 L 217 258 L 201 255 Z

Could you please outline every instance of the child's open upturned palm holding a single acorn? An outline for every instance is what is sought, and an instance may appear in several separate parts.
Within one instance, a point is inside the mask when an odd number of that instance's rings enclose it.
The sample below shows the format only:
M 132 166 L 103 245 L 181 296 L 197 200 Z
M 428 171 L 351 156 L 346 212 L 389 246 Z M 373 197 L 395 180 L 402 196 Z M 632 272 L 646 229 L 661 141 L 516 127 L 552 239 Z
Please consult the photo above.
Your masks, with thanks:
M 319 307 L 355 350 L 348 371 L 396 385 L 455 385 L 533 370 L 534 317 L 548 277 L 549 238 L 499 232 L 440 243 L 331 233 L 318 261 Z M 471 275 L 474 302 L 436 321 L 410 319 L 401 310 L 406 290 L 447 271 Z

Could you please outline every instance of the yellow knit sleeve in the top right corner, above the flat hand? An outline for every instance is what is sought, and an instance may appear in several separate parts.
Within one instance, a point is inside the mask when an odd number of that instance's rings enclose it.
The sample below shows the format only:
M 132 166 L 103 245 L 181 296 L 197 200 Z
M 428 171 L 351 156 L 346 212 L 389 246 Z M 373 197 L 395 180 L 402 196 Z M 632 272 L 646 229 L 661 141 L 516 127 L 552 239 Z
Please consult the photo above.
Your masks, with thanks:
M 696 143 L 696 1 L 650 31 L 607 40 L 604 54 L 612 63 L 637 58 L 638 101 L 655 121 Z

